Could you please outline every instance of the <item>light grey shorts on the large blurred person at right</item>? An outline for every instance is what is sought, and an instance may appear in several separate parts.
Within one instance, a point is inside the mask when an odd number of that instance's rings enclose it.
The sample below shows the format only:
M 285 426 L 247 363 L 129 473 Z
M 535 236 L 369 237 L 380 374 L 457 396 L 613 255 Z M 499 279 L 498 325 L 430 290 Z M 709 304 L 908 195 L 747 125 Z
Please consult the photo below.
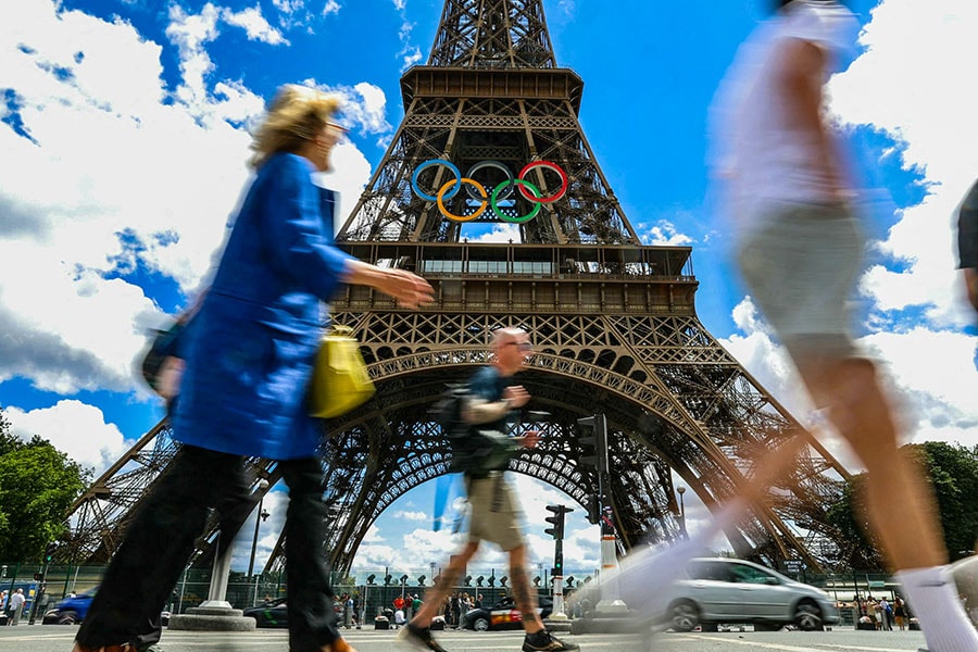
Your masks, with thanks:
M 847 206 L 778 204 L 744 236 L 737 263 L 754 302 L 798 360 L 857 355 L 849 333 L 865 236 Z

